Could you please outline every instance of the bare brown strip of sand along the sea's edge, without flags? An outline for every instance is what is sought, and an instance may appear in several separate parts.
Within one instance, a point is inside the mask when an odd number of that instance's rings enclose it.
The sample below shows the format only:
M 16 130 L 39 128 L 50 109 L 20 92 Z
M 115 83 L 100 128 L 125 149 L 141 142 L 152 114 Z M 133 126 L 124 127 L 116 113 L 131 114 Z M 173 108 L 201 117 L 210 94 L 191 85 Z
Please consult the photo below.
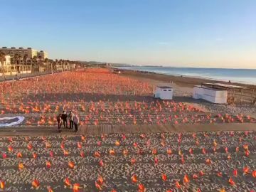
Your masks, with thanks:
M 210 83 L 223 83 L 227 85 L 238 85 L 242 87 L 248 88 L 255 88 L 256 85 L 246 84 L 242 82 L 227 82 L 223 80 L 213 80 L 209 78 L 197 78 L 197 77 L 189 77 L 189 76 L 176 76 L 176 75 L 167 75 L 161 73 L 154 73 L 154 72 L 146 72 L 140 70 L 131 70 L 131 69 L 119 69 L 119 68 L 112 68 L 114 70 L 122 71 L 121 75 L 124 76 L 132 76 L 133 78 L 147 78 L 151 80 L 159 80 L 161 82 L 171 83 L 174 82 L 176 85 L 181 87 L 193 87 L 195 85 L 201 85 L 203 82 L 210 82 Z

